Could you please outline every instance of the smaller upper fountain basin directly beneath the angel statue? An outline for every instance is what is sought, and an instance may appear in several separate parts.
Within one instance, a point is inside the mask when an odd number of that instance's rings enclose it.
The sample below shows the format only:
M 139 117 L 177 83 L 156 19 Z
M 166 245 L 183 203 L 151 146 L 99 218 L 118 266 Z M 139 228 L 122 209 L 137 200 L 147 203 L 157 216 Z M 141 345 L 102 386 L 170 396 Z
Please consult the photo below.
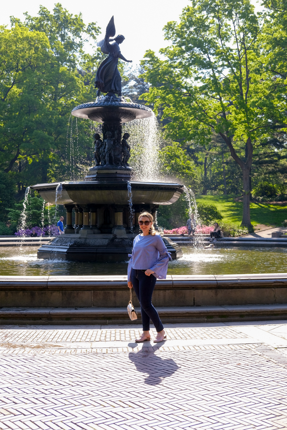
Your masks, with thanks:
M 143 104 L 117 101 L 117 98 L 99 98 L 95 102 L 79 104 L 72 110 L 72 115 L 79 118 L 87 118 L 98 123 L 115 121 L 127 123 L 140 118 L 151 117 L 153 111 Z M 105 101 L 112 99 L 114 101 Z

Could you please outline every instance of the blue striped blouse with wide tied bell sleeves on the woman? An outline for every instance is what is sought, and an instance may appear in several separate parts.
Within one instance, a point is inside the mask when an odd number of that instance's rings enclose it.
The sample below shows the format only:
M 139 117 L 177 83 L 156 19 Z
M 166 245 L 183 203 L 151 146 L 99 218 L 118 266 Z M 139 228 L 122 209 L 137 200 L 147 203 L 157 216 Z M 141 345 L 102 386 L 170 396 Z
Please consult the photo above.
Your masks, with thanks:
M 141 236 L 134 238 L 134 246 L 128 262 L 128 282 L 131 281 L 131 269 L 154 271 L 153 276 L 158 279 L 165 279 L 168 269 L 168 261 L 172 260 L 162 238 L 159 234 L 152 236 Z

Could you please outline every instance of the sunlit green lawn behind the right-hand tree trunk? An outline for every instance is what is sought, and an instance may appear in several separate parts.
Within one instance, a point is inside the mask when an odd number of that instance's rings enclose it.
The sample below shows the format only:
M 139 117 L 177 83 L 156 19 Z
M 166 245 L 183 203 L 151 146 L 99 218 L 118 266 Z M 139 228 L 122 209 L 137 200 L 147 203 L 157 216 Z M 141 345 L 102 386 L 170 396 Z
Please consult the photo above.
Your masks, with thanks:
M 221 222 L 241 224 L 242 221 L 242 202 L 235 202 L 235 195 L 228 196 L 196 196 L 197 203 L 215 205 L 224 216 Z M 251 224 L 265 224 L 281 226 L 287 219 L 287 205 L 266 205 L 265 203 L 250 203 Z

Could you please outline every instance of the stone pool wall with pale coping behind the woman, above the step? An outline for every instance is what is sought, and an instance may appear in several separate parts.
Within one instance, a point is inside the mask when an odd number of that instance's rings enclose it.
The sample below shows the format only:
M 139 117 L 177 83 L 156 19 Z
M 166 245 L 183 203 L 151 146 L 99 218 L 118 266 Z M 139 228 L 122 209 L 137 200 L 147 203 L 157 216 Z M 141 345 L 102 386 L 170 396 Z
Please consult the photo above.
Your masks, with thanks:
M 1 308 L 126 308 L 127 276 L 0 276 Z M 133 292 L 133 302 L 139 302 Z M 287 304 L 287 273 L 168 275 L 153 293 L 156 307 Z M 36 323 L 36 322 L 35 322 Z

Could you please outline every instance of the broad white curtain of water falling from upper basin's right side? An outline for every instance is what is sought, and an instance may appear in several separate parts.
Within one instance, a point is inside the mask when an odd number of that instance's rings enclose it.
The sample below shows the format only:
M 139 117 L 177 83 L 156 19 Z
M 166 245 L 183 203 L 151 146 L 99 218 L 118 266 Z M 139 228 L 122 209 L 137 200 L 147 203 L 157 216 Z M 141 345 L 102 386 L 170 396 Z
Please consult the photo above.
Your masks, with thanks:
M 155 114 L 150 118 L 125 123 L 123 133 L 129 133 L 130 164 L 140 181 L 158 181 L 160 177 L 159 151 L 161 135 Z

